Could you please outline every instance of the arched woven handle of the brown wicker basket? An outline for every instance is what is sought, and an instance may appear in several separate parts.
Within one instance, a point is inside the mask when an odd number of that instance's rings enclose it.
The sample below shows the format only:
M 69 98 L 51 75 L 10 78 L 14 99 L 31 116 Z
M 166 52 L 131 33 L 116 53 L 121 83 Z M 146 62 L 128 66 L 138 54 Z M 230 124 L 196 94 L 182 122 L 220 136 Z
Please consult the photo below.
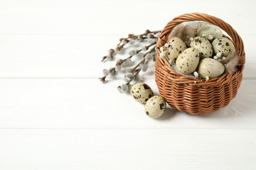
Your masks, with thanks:
M 242 41 L 240 35 L 238 35 L 236 30 L 234 30 L 231 25 L 227 24 L 226 22 L 224 22 L 219 18 L 216 18 L 215 16 L 210 16 L 208 14 L 202 14 L 202 13 L 183 14 L 181 16 L 174 18 L 161 31 L 161 35 L 158 39 L 158 42 L 156 43 L 156 48 L 160 48 L 166 43 L 169 34 L 171 33 L 171 31 L 176 25 L 181 24 L 182 22 L 189 22 L 189 21 L 209 22 L 210 24 L 216 25 L 221 29 L 223 29 L 234 42 L 236 51 L 239 52 L 239 63 L 240 65 L 243 66 L 242 69 L 244 69 L 244 64 L 245 64 L 244 42 Z

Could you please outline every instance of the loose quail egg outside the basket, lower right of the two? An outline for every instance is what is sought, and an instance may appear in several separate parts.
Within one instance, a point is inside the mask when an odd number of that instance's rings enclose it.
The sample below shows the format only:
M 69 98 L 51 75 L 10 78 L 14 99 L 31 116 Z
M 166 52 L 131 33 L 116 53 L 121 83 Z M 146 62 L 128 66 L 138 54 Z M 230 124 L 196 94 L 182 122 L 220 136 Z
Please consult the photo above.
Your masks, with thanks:
M 156 95 L 151 97 L 146 102 L 144 110 L 146 115 L 150 116 L 150 118 L 159 118 L 166 108 L 166 101 L 160 95 Z

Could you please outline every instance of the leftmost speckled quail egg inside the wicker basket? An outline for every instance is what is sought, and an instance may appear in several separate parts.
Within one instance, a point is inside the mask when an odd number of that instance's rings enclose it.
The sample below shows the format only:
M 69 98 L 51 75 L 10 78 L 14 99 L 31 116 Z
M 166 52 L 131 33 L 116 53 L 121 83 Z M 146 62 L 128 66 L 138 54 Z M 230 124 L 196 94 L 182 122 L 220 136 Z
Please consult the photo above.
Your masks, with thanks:
M 186 44 L 179 37 L 172 37 L 168 42 L 167 58 L 176 62 L 179 54 L 186 49 Z

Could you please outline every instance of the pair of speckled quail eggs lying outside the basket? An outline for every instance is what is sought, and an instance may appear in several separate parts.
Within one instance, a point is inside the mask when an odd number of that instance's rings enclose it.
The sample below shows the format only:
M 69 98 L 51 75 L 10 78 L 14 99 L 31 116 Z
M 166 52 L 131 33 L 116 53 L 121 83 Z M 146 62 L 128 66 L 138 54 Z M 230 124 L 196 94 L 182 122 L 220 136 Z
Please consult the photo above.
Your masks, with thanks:
M 160 95 L 154 95 L 154 92 L 148 84 L 142 82 L 133 84 L 131 87 L 131 95 L 133 99 L 139 103 L 146 104 L 144 110 L 146 115 L 150 116 L 150 118 L 159 118 L 163 112 L 165 112 L 165 99 Z

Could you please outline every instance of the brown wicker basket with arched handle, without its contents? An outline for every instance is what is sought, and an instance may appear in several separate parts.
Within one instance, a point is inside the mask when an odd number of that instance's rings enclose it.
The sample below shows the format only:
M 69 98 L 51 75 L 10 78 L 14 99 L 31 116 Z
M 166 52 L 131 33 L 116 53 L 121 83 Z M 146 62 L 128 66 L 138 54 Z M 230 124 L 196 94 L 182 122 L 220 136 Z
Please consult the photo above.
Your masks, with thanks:
M 160 58 L 160 47 L 166 43 L 173 28 L 187 21 L 209 22 L 223 29 L 231 37 L 230 40 L 234 43 L 236 51 L 239 52 L 240 63 L 238 71 L 234 75 L 225 73 L 217 78 L 201 81 L 197 78 L 180 75 L 171 68 L 165 59 Z M 223 20 L 200 13 L 178 16 L 161 31 L 156 48 L 156 84 L 160 95 L 171 107 L 190 114 L 208 114 L 225 107 L 236 97 L 242 82 L 242 71 L 245 64 L 244 43 L 238 33 Z M 195 80 L 196 83 L 194 83 Z

